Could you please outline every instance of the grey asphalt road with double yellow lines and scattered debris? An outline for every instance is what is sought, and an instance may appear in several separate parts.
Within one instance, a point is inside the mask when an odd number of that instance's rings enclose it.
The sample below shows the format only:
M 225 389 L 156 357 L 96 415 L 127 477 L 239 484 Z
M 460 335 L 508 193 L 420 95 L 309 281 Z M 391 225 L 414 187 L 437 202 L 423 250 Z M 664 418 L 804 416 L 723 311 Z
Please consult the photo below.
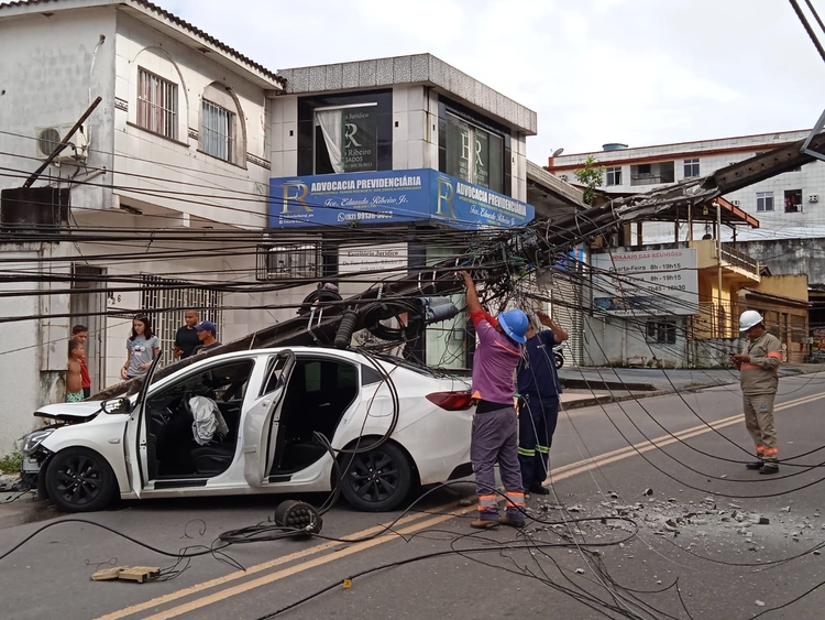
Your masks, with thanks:
M 0 554 L 52 525 L 0 561 L 1 614 L 254 620 L 330 588 L 274 617 L 820 619 L 825 588 L 802 595 L 825 581 L 814 552 L 825 543 L 825 471 L 792 465 L 825 461 L 824 387 L 825 373 L 782 379 L 780 458 L 790 464 L 773 478 L 743 466 L 750 447 L 735 385 L 562 413 L 553 493 L 528 500 L 537 520 L 525 532 L 471 530 L 473 487 L 461 483 L 427 496 L 392 533 L 374 537 L 399 513 L 338 505 L 322 534 L 361 542 L 238 545 L 226 553 L 245 570 L 207 554 L 174 579 L 136 584 L 90 575 L 172 567 L 183 547 L 267 520 L 280 498 L 156 500 L 84 516 L 172 556 L 65 516 L 2 529 Z

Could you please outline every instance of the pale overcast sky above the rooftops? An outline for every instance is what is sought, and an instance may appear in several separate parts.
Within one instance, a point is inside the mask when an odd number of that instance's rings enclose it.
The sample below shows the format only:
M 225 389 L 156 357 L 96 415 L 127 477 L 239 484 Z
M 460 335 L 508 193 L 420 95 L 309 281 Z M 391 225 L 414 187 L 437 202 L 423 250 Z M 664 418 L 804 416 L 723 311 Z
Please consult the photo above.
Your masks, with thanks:
M 535 110 L 542 165 L 806 129 L 825 108 L 825 62 L 785 0 L 155 1 L 273 70 L 430 53 Z

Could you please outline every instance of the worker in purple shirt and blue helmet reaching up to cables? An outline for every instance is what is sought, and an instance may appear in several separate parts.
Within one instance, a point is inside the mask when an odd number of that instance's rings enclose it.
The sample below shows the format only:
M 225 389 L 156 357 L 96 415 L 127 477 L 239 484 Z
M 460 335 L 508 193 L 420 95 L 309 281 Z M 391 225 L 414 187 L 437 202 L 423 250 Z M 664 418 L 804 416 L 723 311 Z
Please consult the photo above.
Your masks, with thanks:
M 466 307 L 475 325 L 479 345 L 473 357 L 473 399 L 476 401 L 470 460 L 479 493 L 479 519 L 471 525 L 495 527 L 499 523 L 524 527 L 525 493 L 518 468 L 518 415 L 513 377 L 527 340 L 527 315 L 513 309 L 493 318 L 484 312 L 472 276 L 462 271 Z M 507 497 L 506 516 L 498 516 L 495 470 L 498 463 Z

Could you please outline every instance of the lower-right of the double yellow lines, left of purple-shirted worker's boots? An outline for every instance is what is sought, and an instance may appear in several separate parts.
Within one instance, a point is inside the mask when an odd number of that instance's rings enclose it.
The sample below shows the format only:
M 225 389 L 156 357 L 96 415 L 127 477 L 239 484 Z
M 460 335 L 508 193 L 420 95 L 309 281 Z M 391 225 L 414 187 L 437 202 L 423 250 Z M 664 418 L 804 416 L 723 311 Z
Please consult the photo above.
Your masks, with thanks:
M 399 534 L 413 534 L 415 532 L 418 532 L 420 530 L 426 530 L 427 527 L 430 527 L 432 525 L 437 525 L 438 523 L 441 523 L 443 521 L 448 521 L 452 519 L 453 516 L 458 516 L 461 513 L 461 511 L 454 511 L 449 514 L 440 514 L 438 516 L 433 516 L 432 519 L 428 519 L 426 521 L 421 521 L 419 523 L 415 523 L 414 525 L 409 525 L 407 527 L 404 527 L 402 530 L 397 530 Z M 205 596 L 199 599 L 195 599 L 189 602 L 185 602 L 183 605 L 179 605 L 177 607 L 173 607 L 172 609 L 167 609 L 166 611 L 162 611 L 160 613 L 155 613 L 154 616 L 148 616 L 144 618 L 144 620 L 167 620 L 168 618 L 175 618 L 176 616 L 180 616 L 182 613 L 188 613 L 190 611 L 195 611 L 196 609 L 200 609 L 201 607 L 206 607 L 208 605 L 212 605 L 213 602 L 221 601 L 226 598 L 237 596 L 243 592 L 246 592 L 249 590 L 252 590 L 254 588 L 260 588 L 261 586 L 265 586 L 267 584 L 272 584 L 274 581 L 278 581 L 280 579 L 284 579 L 286 577 L 292 577 L 293 575 L 296 575 L 298 573 L 302 573 L 304 570 L 308 570 L 310 568 L 315 568 L 317 566 L 321 566 L 323 564 L 327 564 L 329 562 L 334 562 L 336 559 L 339 559 L 341 557 L 346 557 L 348 555 L 352 555 L 355 553 L 359 553 L 361 551 L 387 543 L 389 541 L 395 541 L 398 539 L 397 534 L 385 534 L 382 536 L 378 536 L 376 539 L 373 539 L 371 541 L 365 541 L 363 543 L 356 543 L 349 547 L 344 547 L 338 553 L 330 553 L 327 555 L 322 555 L 321 557 L 316 557 L 315 559 L 310 559 L 308 562 L 304 562 L 301 564 L 296 564 L 295 566 L 290 566 L 288 568 L 284 568 L 283 570 L 278 570 L 276 573 L 272 573 L 270 575 L 264 575 L 263 577 L 258 577 L 257 579 L 252 579 L 251 581 L 245 581 L 243 584 L 239 584 L 237 586 L 233 586 L 231 588 L 227 588 L 220 591 L 217 591 L 212 595 Z

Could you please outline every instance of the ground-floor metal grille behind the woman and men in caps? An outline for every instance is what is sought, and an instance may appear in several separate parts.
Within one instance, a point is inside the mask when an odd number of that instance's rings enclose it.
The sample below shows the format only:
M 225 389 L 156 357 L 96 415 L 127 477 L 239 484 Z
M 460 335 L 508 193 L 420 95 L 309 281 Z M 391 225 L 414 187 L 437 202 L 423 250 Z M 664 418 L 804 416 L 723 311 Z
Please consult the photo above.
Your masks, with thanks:
M 221 307 L 223 294 L 208 289 L 194 289 L 186 282 L 178 282 L 158 275 L 141 275 L 141 311 L 152 322 L 152 330 L 161 339 L 163 363 L 170 363 L 172 345 L 177 328 L 184 325 L 187 309 L 198 311 L 200 320 L 211 320 L 218 326 L 218 340 L 221 338 Z

